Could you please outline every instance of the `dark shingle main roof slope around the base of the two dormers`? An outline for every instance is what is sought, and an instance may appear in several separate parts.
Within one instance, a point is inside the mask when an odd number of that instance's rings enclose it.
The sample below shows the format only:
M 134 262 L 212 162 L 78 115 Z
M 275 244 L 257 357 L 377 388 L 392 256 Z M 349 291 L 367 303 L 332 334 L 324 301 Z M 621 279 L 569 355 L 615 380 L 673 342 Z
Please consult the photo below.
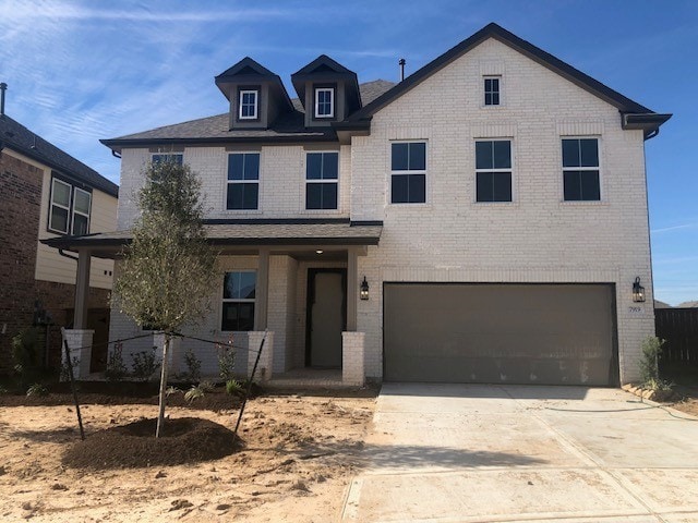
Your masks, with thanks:
M 361 99 L 364 104 L 375 99 L 393 85 L 385 80 L 376 80 L 360 85 Z M 279 117 L 269 129 L 229 130 L 229 114 L 191 120 L 189 122 L 166 125 L 163 127 L 144 131 L 142 133 L 128 134 L 118 138 L 103 139 L 101 143 L 120 149 L 121 146 L 157 144 L 172 142 L 220 142 L 221 139 L 286 139 L 292 141 L 336 141 L 332 127 L 305 129 L 303 107 L 298 98 L 291 100 L 294 111 Z

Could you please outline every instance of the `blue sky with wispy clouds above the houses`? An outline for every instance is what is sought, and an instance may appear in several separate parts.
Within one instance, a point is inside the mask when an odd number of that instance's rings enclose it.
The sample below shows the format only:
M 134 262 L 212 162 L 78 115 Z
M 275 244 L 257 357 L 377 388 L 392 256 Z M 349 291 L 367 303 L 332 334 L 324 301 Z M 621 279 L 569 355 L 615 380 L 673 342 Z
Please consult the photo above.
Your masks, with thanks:
M 244 56 L 287 84 L 320 53 L 396 81 L 490 22 L 674 113 L 646 147 L 654 290 L 698 300 L 698 1 L 0 0 L 0 82 L 9 115 L 118 182 L 98 139 L 225 112 L 213 77 Z

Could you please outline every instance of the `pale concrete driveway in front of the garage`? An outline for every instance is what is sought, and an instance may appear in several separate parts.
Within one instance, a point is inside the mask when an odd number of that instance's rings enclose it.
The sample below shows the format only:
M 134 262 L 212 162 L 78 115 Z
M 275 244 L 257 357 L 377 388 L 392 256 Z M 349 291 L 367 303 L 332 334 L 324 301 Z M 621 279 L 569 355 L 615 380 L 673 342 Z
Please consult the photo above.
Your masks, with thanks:
M 698 522 L 698 421 L 619 389 L 384 385 L 345 522 Z

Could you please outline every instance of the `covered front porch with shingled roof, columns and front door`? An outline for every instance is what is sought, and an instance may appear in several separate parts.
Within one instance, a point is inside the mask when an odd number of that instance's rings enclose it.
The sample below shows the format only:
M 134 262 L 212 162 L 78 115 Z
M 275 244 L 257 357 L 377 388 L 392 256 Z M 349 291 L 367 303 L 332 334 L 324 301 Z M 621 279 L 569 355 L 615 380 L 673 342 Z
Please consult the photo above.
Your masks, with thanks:
M 220 340 L 236 348 L 236 372 L 250 376 L 266 339 L 255 379 L 278 386 L 362 386 L 364 333 L 357 331 L 360 258 L 376 245 L 380 223 L 349 220 L 228 220 L 206 226 L 218 251 L 220 288 L 212 295 L 212 311 L 178 339 L 171 373 L 184 370 L 184 354 L 201 360 L 203 379 L 218 377 L 217 349 L 193 338 Z M 89 369 L 92 332 L 85 328 L 85 293 L 93 256 L 118 262 L 128 232 L 65 236 L 61 248 L 79 253 L 74 329 L 65 331 L 70 346 L 83 348 L 76 368 Z M 57 243 L 57 242 L 53 242 Z M 58 245 L 53 245 L 58 246 Z M 117 263 L 116 277 L 119 275 Z M 365 297 L 365 296 L 364 296 Z M 134 339 L 125 353 L 158 346 L 152 337 L 118 311 L 111 313 L 110 341 Z M 111 345 L 110 345 L 111 350 Z

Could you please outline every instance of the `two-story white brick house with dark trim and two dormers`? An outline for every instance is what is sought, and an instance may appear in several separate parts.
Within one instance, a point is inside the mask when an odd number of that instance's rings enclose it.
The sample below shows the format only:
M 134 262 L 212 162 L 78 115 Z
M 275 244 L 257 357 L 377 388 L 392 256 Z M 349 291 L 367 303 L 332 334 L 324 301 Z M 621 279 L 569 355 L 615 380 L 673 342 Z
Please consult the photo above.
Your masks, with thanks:
M 268 330 L 272 379 L 638 378 L 654 332 L 643 143 L 670 114 L 496 24 L 396 85 L 326 56 L 291 83 L 298 99 L 245 58 L 216 77 L 227 113 L 103 141 L 124 195 L 163 155 L 203 180 L 221 254 L 198 336 L 255 349 Z M 113 255 L 136 212 L 122 197 L 121 232 L 64 245 Z M 111 338 L 140 332 L 112 313 Z M 184 346 L 216 374 L 213 346 Z

